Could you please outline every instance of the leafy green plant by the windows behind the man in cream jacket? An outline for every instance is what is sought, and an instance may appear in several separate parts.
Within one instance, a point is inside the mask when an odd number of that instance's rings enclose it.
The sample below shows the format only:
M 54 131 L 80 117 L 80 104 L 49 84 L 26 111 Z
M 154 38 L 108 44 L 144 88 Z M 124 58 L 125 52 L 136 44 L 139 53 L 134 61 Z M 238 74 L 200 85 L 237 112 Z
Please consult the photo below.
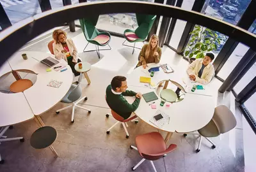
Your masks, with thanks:
M 215 31 L 201 25 L 195 25 L 194 30 L 189 34 L 191 34 L 191 38 L 185 48 L 185 56 L 189 58 L 189 62 L 204 58 L 207 52 L 216 50 L 221 41 L 220 36 Z

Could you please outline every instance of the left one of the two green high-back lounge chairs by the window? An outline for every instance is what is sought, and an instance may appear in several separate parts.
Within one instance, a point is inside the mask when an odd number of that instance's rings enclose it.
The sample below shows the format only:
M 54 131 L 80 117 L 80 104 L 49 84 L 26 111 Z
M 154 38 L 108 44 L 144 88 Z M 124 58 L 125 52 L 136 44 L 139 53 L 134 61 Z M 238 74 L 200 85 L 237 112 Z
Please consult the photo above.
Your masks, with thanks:
M 84 37 L 88 41 L 87 45 L 89 43 L 92 43 L 95 45 L 96 50 L 87 50 L 85 51 L 86 47 L 84 48 L 83 52 L 93 52 L 96 51 L 97 55 L 100 59 L 100 50 L 111 50 L 111 47 L 109 46 L 109 41 L 111 39 L 111 36 L 109 32 L 99 32 L 95 25 L 97 24 L 99 19 L 99 15 L 93 15 L 90 18 L 81 18 L 79 19 L 79 22 L 81 24 L 81 28 L 84 32 Z M 107 49 L 99 49 L 99 46 L 106 46 L 108 45 L 109 48 Z

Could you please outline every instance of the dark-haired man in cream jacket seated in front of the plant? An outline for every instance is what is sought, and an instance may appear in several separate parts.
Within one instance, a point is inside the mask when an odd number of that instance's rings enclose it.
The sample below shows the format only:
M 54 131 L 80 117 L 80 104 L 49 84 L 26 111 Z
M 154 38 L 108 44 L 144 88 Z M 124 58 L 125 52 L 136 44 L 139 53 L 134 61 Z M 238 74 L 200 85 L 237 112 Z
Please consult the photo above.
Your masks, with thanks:
M 211 82 L 214 76 L 214 67 L 211 64 L 214 59 L 212 53 L 207 53 L 204 59 L 196 59 L 193 61 L 187 69 L 190 80 L 199 82 L 202 84 L 207 84 Z

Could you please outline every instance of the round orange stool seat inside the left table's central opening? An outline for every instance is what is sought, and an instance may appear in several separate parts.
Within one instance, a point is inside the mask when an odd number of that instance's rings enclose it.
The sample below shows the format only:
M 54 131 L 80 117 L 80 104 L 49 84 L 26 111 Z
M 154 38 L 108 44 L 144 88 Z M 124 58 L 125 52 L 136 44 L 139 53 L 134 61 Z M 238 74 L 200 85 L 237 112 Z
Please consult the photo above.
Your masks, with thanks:
M 10 86 L 10 91 L 11 92 L 24 92 L 24 90 L 30 88 L 33 85 L 31 80 L 27 79 L 22 79 L 22 80 L 17 80 L 12 83 Z

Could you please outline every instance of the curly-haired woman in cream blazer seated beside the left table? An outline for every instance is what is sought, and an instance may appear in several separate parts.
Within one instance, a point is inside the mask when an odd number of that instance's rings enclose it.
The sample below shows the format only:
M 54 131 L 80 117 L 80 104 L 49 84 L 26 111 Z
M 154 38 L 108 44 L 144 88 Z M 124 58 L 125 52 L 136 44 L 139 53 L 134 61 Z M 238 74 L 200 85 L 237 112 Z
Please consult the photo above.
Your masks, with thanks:
M 77 49 L 72 39 L 67 39 L 67 33 L 61 29 L 56 29 L 52 33 L 52 38 L 54 39 L 52 45 L 56 59 L 67 61 L 74 75 L 78 76 L 80 73 L 76 71 L 75 65 L 77 62 L 81 62 L 81 59 L 77 55 Z

